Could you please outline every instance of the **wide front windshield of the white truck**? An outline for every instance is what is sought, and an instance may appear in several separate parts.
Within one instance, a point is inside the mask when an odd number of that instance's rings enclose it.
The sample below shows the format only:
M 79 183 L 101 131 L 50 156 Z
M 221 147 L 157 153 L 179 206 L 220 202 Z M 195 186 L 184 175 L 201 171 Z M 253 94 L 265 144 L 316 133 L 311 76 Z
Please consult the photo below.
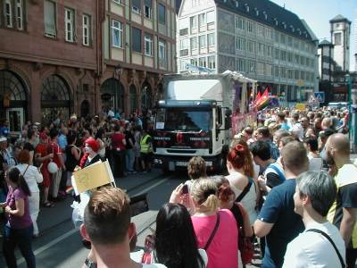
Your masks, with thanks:
M 212 111 L 163 108 L 156 113 L 155 130 L 199 131 L 212 129 Z

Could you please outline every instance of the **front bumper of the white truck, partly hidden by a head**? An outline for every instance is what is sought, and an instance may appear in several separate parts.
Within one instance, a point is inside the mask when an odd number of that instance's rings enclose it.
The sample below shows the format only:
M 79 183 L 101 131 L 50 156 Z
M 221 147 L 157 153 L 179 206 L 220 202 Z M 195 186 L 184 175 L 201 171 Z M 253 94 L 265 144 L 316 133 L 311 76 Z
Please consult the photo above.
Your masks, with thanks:
M 180 156 L 180 157 L 170 157 L 168 155 L 154 155 L 153 156 L 153 167 L 157 169 L 162 169 L 165 171 L 187 171 L 187 164 L 191 159 L 191 156 Z M 204 157 L 204 162 L 206 163 L 207 171 L 220 170 L 221 166 L 221 156 L 208 156 Z

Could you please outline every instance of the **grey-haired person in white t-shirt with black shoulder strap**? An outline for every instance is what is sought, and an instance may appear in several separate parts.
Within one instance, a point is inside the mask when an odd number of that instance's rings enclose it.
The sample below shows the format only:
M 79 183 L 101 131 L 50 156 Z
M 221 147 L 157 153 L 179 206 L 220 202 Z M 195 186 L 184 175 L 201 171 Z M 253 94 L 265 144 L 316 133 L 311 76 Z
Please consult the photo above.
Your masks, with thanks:
M 287 245 L 283 267 L 342 267 L 341 261 L 345 264 L 345 241 L 327 220 L 336 193 L 336 182 L 328 172 L 303 172 L 296 178 L 295 213 L 303 217 L 306 229 Z M 319 230 L 332 239 L 339 255 Z

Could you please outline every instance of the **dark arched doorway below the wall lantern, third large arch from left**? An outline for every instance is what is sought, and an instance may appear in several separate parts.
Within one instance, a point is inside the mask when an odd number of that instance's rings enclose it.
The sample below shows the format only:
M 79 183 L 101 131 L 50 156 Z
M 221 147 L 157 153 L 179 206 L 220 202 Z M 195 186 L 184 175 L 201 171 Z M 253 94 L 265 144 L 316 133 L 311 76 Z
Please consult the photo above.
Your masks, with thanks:
M 105 107 L 106 111 L 109 111 L 111 107 L 114 107 L 114 112 L 117 109 L 124 108 L 124 87 L 116 79 L 108 79 L 103 82 L 100 87 L 101 95 L 109 94 L 111 97 L 109 99 L 102 98 L 102 106 Z

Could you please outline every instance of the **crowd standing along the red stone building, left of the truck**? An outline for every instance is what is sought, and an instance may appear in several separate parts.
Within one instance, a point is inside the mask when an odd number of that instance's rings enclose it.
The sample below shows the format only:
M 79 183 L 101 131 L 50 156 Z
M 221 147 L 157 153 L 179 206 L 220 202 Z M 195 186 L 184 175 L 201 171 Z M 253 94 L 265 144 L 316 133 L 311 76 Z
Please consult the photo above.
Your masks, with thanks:
M 150 129 L 150 117 L 131 113 L 127 118 L 121 111 L 109 112 L 86 118 L 73 114 L 69 121 L 57 114 L 47 126 L 27 121 L 16 140 L 11 138 L 9 121 L 4 121 L 0 129 L 0 213 L 8 220 L 3 252 L 9 267 L 16 265 L 16 244 L 28 267 L 36 266 L 31 241 L 40 231 L 40 207 L 52 208 L 66 198 L 72 172 L 106 159 L 115 178 L 151 172 L 152 138 L 144 129 Z

